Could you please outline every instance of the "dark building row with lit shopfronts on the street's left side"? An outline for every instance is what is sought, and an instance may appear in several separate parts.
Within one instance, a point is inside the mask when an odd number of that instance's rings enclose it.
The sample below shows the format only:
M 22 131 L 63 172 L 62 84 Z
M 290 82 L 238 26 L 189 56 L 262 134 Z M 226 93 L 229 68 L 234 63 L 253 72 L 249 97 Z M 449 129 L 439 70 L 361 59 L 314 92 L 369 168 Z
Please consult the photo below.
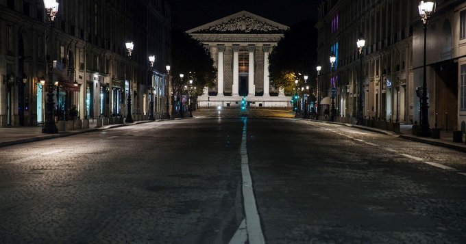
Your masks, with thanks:
M 136 120 L 147 115 L 151 96 L 156 113 L 165 113 L 165 66 L 171 57 L 167 1 L 58 2 L 50 27 L 42 0 L 0 0 L 0 126 L 45 120 L 47 85 L 39 80 L 49 80 L 52 63 L 56 120 L 74 119 L 73 107 L 80 119 L 125 116 L 128 94 Z M 131 59 L 127 40 L 134 42 Z M 149 55 L 156 56 L 153 69 Z

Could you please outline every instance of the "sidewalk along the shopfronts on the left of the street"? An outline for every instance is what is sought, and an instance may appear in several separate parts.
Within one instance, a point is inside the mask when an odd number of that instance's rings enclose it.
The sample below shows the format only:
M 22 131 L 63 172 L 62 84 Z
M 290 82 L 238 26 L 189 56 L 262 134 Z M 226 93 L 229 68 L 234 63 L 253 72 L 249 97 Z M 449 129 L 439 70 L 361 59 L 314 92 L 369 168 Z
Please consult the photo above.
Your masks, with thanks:
M 185 118 L 175 118 L 170 120 L 180 120 Z M 3 127 L 0 128 L 0 148 L 4 146 L 11 146 L 16 144 L 23 144 L 32 141 L 41 141 L 45 139 L 53 139 L 57 137 L 68 137 L 70 135 L 77 135 L 81 133 L 88 133 L 93 131 L 101 131 L 109 128 L 116 128 L 121 126 L 130 126 L 134 124 L 142 124 L 148 122 L 158 122 L 163 120 L 140 120 L 133 123 L 125 124 L 110 124 L 97 128 L 97 120 L 89 120 L 89 128 L 78 129 L 74 131 L 63 131 L 57 134 L 42 133 L 42 126 L 23 126 L 23 127 Z

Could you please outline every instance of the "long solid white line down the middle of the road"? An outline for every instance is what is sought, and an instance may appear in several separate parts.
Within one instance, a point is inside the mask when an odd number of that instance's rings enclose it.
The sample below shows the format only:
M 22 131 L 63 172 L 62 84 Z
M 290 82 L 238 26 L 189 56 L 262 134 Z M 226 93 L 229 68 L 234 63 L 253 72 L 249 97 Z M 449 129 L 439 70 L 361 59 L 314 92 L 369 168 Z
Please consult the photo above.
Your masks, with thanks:
M 243 177 L 243 199 L 245 207 L 245 225 L 247 230 L 247 239 L 250 244 L 264 244 L 264 234 L 260 227 L 260 218 L 256 206 L 256 198 L 252 190 L 252 178 L 249 172 L 249 164 L 246 151 L 246 122 L 244 118 L 243 137 L 241 139 L 241 175 Z M 238 231 L 241 229 L 238 228 Z M 235 234 L 236 235 L 236 234 Z

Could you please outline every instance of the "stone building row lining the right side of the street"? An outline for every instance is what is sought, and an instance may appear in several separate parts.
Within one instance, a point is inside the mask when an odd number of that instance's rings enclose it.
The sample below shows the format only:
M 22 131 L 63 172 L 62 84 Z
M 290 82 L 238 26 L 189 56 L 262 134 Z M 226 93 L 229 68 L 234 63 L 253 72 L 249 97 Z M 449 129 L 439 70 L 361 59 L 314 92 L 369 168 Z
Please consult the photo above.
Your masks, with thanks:
M 430 128 L 465 132 L 465 10 L 464 1 L 437 1 L 428 21 Z M 316 28 L 318 58 L 324 64 L 321 92 L 331 96 L 334 81 L 338 116 L 357 117 L 362 80 L 365 118 L 419 123 L 417 90 L 423 83 L 424 29 L 417 1 L 321 1 Z M 356 47 L 360 34 L 366 40 L 362 66 Z M 336 55 L 333 76 L 328 61 L 332 52 Z

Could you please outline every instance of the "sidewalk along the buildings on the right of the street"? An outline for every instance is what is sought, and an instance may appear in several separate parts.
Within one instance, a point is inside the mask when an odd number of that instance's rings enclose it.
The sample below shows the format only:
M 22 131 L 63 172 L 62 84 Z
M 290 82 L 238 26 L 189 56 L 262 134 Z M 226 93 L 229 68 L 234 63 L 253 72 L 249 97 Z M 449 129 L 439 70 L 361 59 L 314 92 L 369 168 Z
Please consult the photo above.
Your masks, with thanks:
M 412 141 L 419 141 L 425 144 L 430 144 L 434 146 L 442 146 L 445 148 L 451 148 L 454 150 L 458 150 L 461 152 L 466 152 L 466 143 L 465 139 L 463 136 L 463 142 L 453 142 L 453 133 L 452 131 L 445 132 L 443 130 L 440 131 L 440 139 L 432 139 L 430 137 L 418 137 L 416 135 L 412 135 L 411 133 L 411 127 L 413 126 L 412 124 L 400 124 L 400 134 L 393 133 L 392 131 L 385 131 L 379 128 L 372 128 L 368 126 L 360 126 L 356 124 L 345 124 L 345 123 L 339 123 L 339 122 L 327 122 L 323 120 L 312 120 L 316 122 L 323 122 L 323 123 L 331 123 L 331 124 L 342 124 L 345 126 L 349 127 L 354 127 L 354 128 L 360 128 L 366 131 L 373 131 L 377 133 L 383 133 L 386 135 L 391 135 L 394 137 L 400 137 L 403 139 L 410 139 Z

